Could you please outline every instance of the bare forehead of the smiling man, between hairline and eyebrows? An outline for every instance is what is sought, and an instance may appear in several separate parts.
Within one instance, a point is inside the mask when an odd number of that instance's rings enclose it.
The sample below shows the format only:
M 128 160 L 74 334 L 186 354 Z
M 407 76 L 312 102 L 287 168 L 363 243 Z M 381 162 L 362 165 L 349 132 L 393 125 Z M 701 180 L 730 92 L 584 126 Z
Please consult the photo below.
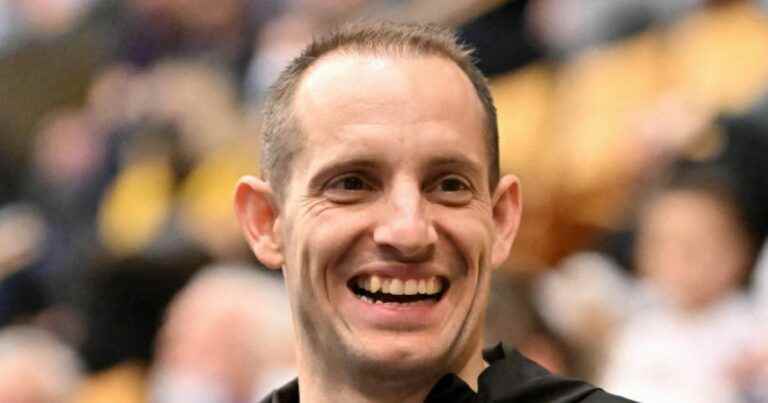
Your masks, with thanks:
M 459 153 L 487 172 L 485 111 L 472 83 L 448 59 L 327 55 L 305 73 L 293 107 L 305 160 L 333 146 L 373 152 L 372 142 L 394 141 L 403 149 Z

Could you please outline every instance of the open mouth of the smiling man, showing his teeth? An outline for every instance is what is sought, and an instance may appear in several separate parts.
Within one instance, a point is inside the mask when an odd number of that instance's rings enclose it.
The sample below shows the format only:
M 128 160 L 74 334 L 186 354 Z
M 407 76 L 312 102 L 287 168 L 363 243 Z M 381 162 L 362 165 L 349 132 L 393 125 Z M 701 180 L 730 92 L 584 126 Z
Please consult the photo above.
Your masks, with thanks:
M 364 274 L 349 280 L 347 286 L 368 303 L 412 304 L 439 301 L 448 289 L 448 282 L 437 276 L 403 280 Z

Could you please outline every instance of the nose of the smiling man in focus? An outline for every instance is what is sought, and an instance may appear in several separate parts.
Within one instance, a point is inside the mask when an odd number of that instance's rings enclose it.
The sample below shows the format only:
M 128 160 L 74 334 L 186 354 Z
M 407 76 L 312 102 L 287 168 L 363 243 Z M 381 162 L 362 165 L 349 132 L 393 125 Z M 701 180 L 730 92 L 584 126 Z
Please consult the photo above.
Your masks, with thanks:
M 373 232 L 374 242 L 405 261 L 429 259 L 437 242 L 437 231 L 428 216 L 417 184 L 393 188 L 384 213 Z

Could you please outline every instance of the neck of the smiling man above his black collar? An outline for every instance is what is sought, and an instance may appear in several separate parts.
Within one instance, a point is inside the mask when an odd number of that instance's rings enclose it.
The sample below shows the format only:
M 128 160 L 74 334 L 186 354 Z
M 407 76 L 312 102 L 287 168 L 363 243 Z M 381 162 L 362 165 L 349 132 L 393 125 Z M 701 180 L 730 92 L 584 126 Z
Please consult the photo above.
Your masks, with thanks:
M 361 379 L 359 374 L 336 368 L 311 365 L 299 354 L 299 393 L 302 402 L 360 402 L 360 403 L 421 403 L 437 381 L 447 373 L 454 373 L 473 390 L 477 390 L 477 377 L 485 369 L 482 346 L 466 354 L 454 368 L 443 373 L 413 376 L 390 376 L 387 379 Z M 309 364 L 309 365 L 307 365 Z

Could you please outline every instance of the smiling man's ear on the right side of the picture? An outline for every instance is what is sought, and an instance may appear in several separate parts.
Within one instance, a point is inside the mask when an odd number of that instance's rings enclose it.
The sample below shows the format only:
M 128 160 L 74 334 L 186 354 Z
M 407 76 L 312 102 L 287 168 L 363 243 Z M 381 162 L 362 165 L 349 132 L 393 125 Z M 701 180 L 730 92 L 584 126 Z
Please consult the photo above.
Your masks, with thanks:
M 523 202 L 520 197 L 520 182 L 512 175 L 505 175 L 499 180 L 493 194 L 493 221 L 496 238 L 491 251 L 491 264 L 501 266 L 509 256 L 512 242 L 520 226 Z

